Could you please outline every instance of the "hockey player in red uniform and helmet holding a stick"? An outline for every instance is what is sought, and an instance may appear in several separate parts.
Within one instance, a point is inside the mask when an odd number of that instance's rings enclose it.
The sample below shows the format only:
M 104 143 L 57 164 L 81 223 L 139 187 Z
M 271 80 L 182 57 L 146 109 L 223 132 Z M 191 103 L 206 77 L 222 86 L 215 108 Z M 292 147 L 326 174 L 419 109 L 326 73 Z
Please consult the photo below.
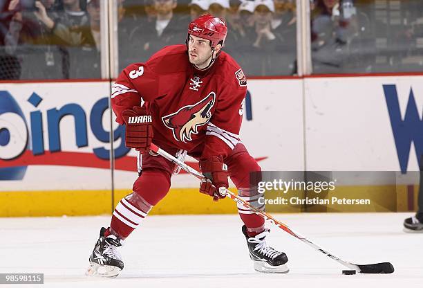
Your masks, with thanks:
M 118 276 L 124 267 L 117 251 L 121 241 L 170 188 L 176 167 L 151 152 L 151 142 L 180 159 L 184 154 L 198 159 L 205 176 L 201 193 L 218 201 L 229 176 L 243 199 L 264 208 L 250 185 L 250 172 L 261 168 L 238 136 L 247 80 L 232 57 L 221 51 L 226 35 L 223 19 L 198 17 L 189 24 L 186 45 L 164 47 L 146 63 L 129 65 L 113 84 L 112 108 L 116 121 L 126 125 L 126 146 L 139 152 L 139 177 L 133 192 L 116 206 L 109 228 L 101 229 L 88 274 Z M 238 213 L 254 269 L 288 272 L 285 253 L 266 243 L 269 230 L 263 218 L 243 206 Z

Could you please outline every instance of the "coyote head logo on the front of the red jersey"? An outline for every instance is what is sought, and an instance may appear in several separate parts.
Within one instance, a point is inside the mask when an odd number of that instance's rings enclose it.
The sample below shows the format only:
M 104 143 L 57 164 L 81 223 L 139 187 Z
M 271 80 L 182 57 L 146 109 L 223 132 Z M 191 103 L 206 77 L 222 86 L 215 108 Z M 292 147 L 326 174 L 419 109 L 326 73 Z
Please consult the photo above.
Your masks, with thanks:
M 187 105 L 180 108 L 175 113 L 162 117 L 162 121 L 166 127 L 172 129 L 173 137 L 177 141 L 187 143 L 191 141 L 191 134 L 198 134 L 198 126 L 205 125 L 209 122 L 212 114 L 216 94 L 210 92 L 206 98 L 200 100 L 194 105 Z

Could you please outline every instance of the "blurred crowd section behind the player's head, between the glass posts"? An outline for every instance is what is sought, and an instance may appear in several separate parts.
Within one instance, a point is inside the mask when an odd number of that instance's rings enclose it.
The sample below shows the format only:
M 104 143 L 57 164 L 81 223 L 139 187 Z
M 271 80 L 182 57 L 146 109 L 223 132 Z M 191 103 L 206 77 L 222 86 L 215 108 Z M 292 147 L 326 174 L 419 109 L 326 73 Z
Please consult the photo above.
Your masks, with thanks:
M 144 16 L 129 16 L 125 25 L 119 25 L 119 46 L 124 47 L 120 69 L 147 60 L 163 46 L 184 44 L 189 21 L 208 12 L 226 20 L 224 51 L 247 75 L 292 75 L 297 54 L 293 1 L 145 0 Z M 136 1 L 132 2 L 136 6 Z

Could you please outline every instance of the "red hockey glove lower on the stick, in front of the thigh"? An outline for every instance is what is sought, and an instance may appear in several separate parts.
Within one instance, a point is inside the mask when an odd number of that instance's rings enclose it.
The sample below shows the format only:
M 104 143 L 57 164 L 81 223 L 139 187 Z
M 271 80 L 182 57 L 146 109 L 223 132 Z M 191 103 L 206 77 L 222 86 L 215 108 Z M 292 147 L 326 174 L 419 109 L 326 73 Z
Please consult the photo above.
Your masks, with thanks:
M 226 197 L 227 165 L 223 163 L 222 157 L 210 157 L 200 161 L 200 169 L 205 178 L 200 182 L 200 193 L 208 194 L 214 201 Z

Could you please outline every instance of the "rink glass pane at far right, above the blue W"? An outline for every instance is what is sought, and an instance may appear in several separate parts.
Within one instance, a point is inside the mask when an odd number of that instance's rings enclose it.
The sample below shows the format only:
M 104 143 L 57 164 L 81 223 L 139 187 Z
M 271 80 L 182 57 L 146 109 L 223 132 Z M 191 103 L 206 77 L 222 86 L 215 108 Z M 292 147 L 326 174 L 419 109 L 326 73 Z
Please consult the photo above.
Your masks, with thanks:
M 311 12 L 313 73 L 422 71 L 422 1 L 328 2 Z

